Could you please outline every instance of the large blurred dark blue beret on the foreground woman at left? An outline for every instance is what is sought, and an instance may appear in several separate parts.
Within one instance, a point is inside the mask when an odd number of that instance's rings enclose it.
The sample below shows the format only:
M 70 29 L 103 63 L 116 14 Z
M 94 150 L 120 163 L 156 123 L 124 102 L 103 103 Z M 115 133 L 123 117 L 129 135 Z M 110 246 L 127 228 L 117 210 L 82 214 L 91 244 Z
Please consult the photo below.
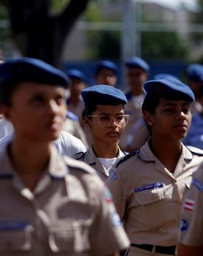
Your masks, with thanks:
M 0 83 L 35 82 L 68 86 L 64 72 L 39 59 L 7 59 L 0 64 Z

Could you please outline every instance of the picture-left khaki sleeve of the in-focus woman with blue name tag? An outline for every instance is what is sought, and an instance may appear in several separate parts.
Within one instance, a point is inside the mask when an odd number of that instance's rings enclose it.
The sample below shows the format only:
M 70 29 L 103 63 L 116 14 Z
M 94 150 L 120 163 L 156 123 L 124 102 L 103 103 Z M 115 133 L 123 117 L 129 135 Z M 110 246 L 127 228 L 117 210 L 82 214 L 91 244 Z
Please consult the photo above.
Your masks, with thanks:
M 105 181 L 105 184 L 112 193 L 115 208 L 118 211 L 121 221 L 123 221 L 126 210 L 126 193 L 123 180 L 115 168 L 110 171 L 110 176 Z

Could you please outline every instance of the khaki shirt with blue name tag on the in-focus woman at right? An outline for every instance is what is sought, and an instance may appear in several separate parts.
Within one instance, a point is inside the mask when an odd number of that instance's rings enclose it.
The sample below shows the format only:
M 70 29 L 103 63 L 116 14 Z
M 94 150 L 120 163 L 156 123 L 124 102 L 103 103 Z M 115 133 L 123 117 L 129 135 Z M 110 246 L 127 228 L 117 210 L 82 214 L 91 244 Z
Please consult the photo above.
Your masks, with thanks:
M 177 244 L 183 197 L 191 186 L 192 174 L 203 160 L 203 151 L 193 151 L 183 146 L 175 171 L 170 173 L 147 142 L 111 171 L 106 184 L 132 244 Z

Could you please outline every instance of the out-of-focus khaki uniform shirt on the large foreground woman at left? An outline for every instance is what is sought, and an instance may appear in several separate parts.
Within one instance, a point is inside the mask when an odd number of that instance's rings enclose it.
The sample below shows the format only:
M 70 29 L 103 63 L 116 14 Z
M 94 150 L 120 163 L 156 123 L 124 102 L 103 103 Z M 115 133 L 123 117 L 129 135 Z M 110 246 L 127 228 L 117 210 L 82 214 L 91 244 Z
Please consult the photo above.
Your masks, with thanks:
M 129 240 L 112 198 L 95 171 L 52 148 L 31 192 L 0 155 L 0 255 L 111 255 Z

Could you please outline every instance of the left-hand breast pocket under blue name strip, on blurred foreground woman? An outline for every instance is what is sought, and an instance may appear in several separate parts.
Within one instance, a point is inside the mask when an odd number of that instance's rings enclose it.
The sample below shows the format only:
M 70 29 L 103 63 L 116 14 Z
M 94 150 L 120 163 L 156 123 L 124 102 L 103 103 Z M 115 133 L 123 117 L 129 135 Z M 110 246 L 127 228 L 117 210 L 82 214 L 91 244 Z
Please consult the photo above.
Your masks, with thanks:
M 31 227 L 22 230 L 0 230 L 1 252 L 28 252 L 31 250 Z

